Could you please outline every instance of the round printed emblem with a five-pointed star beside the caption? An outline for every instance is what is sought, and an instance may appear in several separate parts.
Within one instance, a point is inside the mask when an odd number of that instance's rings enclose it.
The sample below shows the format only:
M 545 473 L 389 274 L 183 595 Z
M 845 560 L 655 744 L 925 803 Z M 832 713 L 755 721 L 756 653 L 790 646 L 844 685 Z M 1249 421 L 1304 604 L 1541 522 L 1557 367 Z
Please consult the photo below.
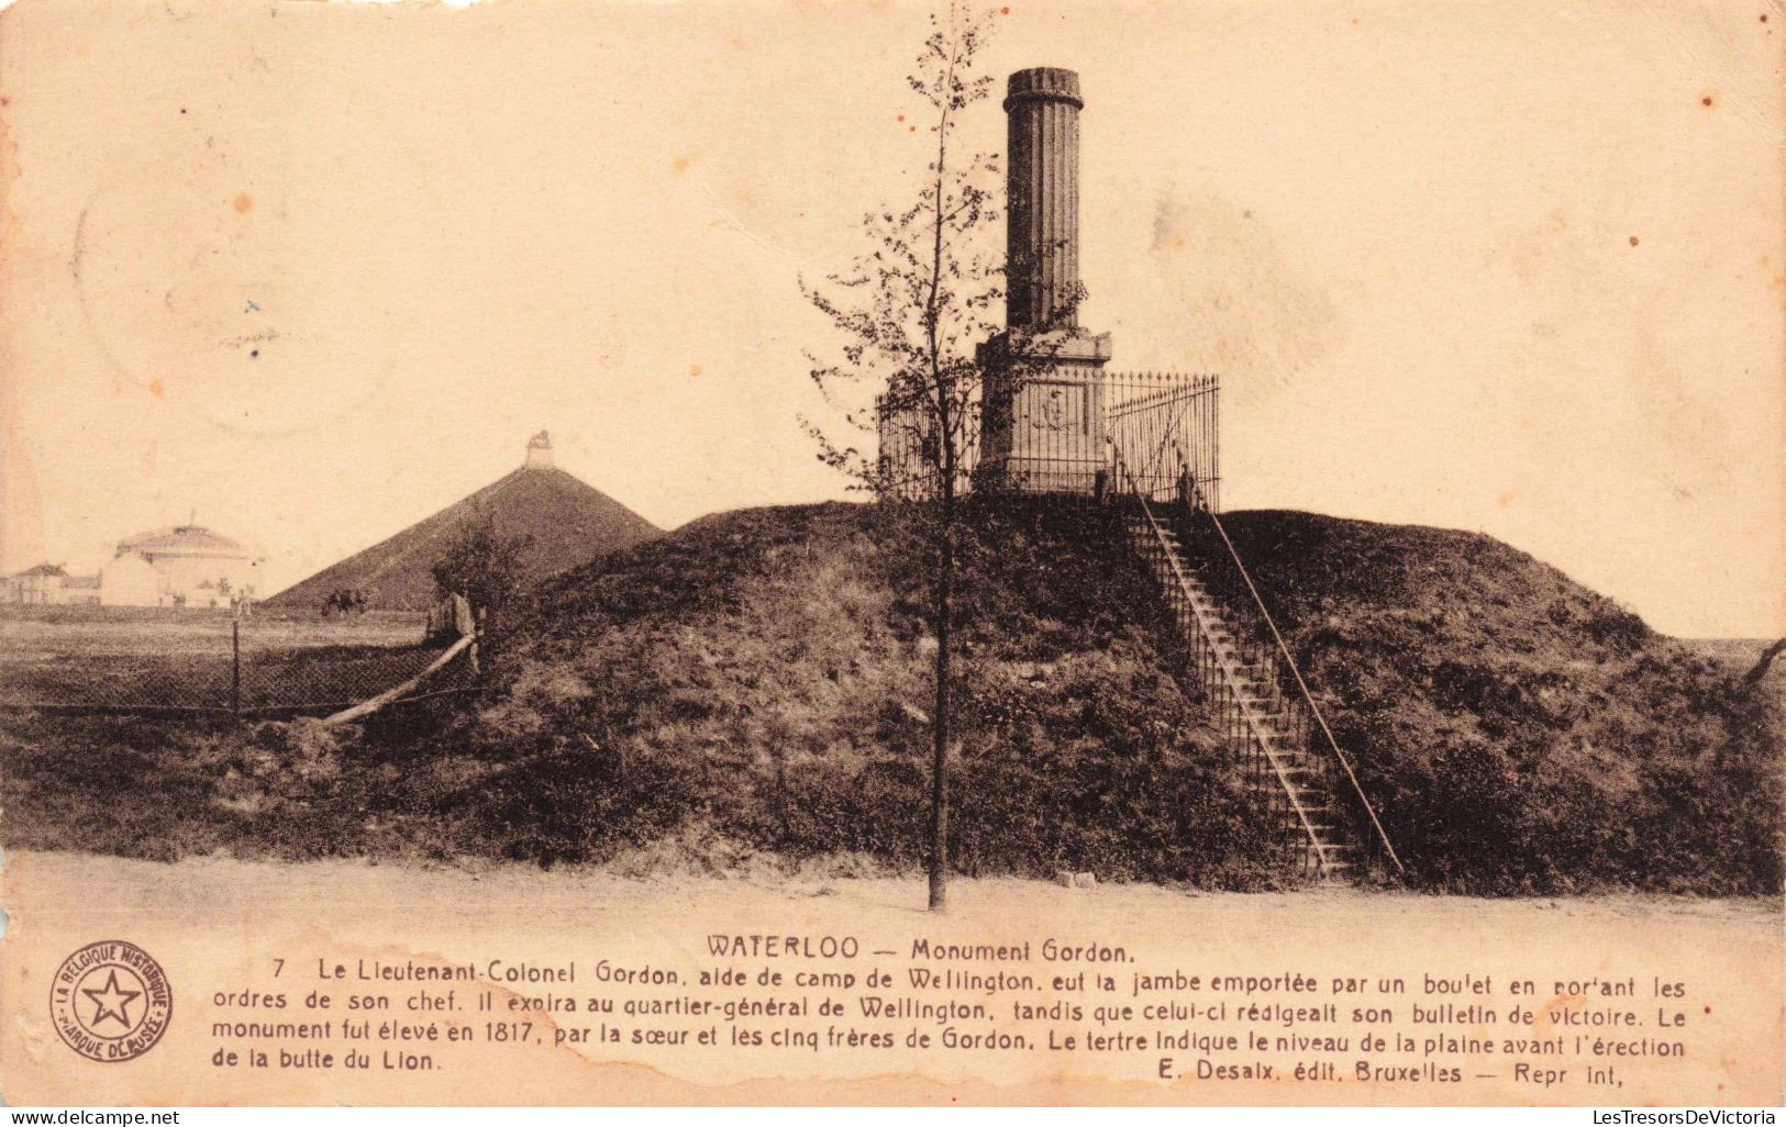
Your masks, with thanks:
M 130 1061 L 155 1047 L 173 1016 L 168 975 L 123 939 L 88 943 L 50 981 L 50 1020 L 89 1061 Z

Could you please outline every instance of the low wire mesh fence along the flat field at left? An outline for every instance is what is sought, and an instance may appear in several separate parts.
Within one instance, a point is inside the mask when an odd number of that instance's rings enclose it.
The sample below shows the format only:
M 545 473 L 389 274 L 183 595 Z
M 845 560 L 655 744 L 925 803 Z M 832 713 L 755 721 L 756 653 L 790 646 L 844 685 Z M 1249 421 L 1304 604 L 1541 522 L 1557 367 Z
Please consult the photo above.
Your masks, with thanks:
M 421 614 L 0 607 L 0 709 L 329 716 L 429 670 L 457 636 Z M 405 697 L 477 688 L 466 648 Z

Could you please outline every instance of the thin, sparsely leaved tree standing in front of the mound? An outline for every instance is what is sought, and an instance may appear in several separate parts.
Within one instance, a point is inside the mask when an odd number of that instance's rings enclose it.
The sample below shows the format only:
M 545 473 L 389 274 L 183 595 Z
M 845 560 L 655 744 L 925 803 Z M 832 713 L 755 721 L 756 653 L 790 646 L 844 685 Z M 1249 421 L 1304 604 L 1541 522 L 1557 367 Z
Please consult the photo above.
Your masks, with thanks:
M 997 163 L 963 154 L 964 111 L 986 98 L 991 77 L 975 70 L 991 13 L 950 5 L 931 16 L 931 36 L 907 84 L 929 105 L 932 155 L 913 184 L 913 200 L 863 218 L 868 245 L 850 270 L 805 286 L 839 336 L 841 359 L 807 354 L 811 377 L 857 430 L 879 425 L 882 445 L 916 454 L 923 482 L 895 480 L 902 464 L 870 461 L 807 422 L 820 459 L 882 497 L 922 497 L 914 505 L 934 543 L 931 630 L 936 636 L 936 700 L 931 713 L 931 911 L 948 898 L 950 659 L 957 572 L 959 493 L 979 438 L 982 371 L 975 345 L 998 330 L 1004 298 L 997 254 Z M 850 397 L 850 391 L 855 391 Z M 879 391 L 872 413 L 863 391 Z M 802 420 L 805 422 L 805 420 Z

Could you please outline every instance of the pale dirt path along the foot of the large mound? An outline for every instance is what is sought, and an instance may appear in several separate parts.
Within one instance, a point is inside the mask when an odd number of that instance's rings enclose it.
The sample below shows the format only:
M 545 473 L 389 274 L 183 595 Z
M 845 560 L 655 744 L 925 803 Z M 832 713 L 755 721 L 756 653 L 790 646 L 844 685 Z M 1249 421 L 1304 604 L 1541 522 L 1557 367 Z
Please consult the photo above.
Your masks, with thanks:
M 29 911 L 30 891 L 39 882 L 104 888 L 104 902 L 82 911 L 130 914 L 175 913 L 173 920 L 202 923 L 216 911 L 255 911 L 309 916 L 318 902 L 357 906 L 479 904 L 484 913 L 527 907 L 545 918 L 580 918 L 588 911 L 652 906 L 666 900 L 698 900 L 713 911 L 780 911 L 789 902 L 820 898 L 850 914 L 886 922 L 922 911 L 922 877 L 618 877 L 600 868 L 543 872 L 532 864 L 418 866 L 377 861 L 234 861 L 204 857 L 159 864 L 91 854 L 9 850 L 5 886 L 9 907 Z M 20 888 L 23 886 L 23 888 Z M 1691 898 L 1652 895 L 1604 895 L 1579 898 L 1477 898 L 1366 893 L 1322 888 L 1291 893 L 1209 893 L 1154 884 L 1100 884 L 1066 889 L 1057 884 L 1016 879 L 957 879 L 948 920 L 1054 920 L 1089 916 L 1159 918 L 1218 916 L 1236 939 L 1266 939 L 1300 931 L 1334 929 L 1359 934 L 1397 920 L 1404 941 L 1440 936 L 1452 929 L 1500 931 L 1568 920 L 1582 927 L 1641 925 L 1715 929 L 1779 941 L 1781 902 L 1761 898 Z M 20 897 L 20 893 L 25 893 Z M 152 907 L 154 906 L 154 907 Z

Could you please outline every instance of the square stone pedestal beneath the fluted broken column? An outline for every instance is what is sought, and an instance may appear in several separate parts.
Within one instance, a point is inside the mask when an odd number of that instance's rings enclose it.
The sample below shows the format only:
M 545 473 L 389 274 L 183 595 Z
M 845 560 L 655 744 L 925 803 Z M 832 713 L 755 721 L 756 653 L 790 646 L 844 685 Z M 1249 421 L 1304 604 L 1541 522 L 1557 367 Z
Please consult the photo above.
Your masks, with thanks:
M 1098 493 L 1109 468 L 1102 368 L 1107 332 L 1000 332 L 979 346 L 979 484 L 1020 493 Z

